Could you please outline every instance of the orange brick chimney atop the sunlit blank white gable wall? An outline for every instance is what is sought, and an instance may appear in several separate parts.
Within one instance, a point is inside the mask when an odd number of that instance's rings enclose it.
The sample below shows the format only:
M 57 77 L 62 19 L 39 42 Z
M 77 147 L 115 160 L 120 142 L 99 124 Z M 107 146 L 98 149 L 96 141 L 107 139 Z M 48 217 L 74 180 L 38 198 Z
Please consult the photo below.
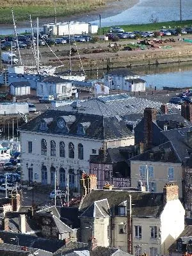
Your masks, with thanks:
M 166 184 L 163 188 L 163 203 L 179 199 L 179 187 L 175 184 Z

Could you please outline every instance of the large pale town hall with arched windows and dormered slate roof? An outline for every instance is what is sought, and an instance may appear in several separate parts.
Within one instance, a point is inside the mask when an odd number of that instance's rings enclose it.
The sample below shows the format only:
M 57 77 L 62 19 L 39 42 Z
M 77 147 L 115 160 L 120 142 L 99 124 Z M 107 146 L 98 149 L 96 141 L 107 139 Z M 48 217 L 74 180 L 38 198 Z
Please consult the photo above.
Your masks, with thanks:
M 79 189 L 99 149 L 134 145 L 133 127 L 159 102 L 111 95 L 48 110 L 20 128 L 22 179 Z

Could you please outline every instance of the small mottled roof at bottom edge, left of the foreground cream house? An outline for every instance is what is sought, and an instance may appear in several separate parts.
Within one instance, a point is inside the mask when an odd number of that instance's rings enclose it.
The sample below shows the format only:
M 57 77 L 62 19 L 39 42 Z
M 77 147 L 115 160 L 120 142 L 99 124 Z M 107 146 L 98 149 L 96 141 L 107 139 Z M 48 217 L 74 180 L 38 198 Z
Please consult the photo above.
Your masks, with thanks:
M 58 249 L 55 253 L 53 253 L 53 255 L 60 256 L 61 253 L 70 253 L 70 252 L 82 251 L 82 250 L 88 250 L 88 244 L 79 243 L 79 242 L 70 242 L 67 245 L 64 245 L 60 249 Z

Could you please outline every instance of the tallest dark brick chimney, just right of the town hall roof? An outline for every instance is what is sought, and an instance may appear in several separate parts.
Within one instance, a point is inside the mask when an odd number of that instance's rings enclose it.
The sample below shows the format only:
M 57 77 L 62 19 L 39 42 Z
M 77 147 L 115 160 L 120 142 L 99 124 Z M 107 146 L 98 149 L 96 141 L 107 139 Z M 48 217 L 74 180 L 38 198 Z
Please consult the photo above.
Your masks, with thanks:
M 144 110 L 144 145 L 145 149 L 152 148 L 152 121 L 156 120 L 157 109 L 145 108 Z

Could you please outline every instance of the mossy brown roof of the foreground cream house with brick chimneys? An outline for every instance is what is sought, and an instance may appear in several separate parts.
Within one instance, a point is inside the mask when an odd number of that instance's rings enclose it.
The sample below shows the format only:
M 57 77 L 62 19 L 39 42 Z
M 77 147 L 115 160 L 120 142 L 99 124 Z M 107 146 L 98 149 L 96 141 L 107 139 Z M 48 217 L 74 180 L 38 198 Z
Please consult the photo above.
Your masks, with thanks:
M 129 200 L 129 195 L 132 196 L 132 216 L 138 218 L 157 217 L 163 210 L 163 194 L 162 193 L 142 193 L 132 191 L 113 191 L 95 189 L 85 196 L 80 205 L 81 211 L 86 211 L 93 202 L 107 199 L 109 208 L 114 205 L 119 205 L 125 200 Z

